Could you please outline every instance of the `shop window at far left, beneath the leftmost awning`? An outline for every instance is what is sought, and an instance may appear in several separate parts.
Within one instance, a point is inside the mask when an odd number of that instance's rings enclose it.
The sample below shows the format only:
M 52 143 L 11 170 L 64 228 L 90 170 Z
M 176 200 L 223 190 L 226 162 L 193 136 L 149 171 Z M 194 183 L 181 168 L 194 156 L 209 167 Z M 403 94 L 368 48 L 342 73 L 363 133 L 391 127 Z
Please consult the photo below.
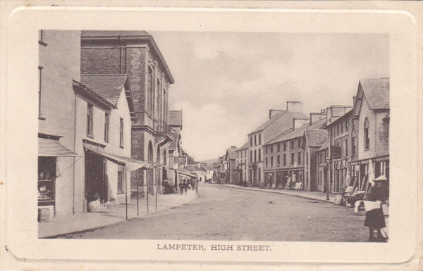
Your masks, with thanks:
M 56 157 L 38 157 L 38 203 L 53 205 L 55 199 Z

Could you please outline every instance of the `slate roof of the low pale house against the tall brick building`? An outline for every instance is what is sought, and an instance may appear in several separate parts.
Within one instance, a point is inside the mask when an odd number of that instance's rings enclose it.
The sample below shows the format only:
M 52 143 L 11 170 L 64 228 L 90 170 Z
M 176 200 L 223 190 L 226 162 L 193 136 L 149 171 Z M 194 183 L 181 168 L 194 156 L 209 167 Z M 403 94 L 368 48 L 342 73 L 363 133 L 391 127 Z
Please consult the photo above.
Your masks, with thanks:
M 125 85 L 126 75 L 82 74 L 81 82 L 116 106 Z

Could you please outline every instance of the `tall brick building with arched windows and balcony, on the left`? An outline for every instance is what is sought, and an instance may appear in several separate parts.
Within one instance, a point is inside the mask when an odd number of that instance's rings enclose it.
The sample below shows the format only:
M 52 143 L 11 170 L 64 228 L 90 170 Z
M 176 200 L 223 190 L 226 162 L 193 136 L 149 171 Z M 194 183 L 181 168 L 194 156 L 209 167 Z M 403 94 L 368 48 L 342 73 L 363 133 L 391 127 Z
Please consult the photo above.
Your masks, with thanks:
M 133 95 L 136 122 L 132 124 L 134 159 L 154 168 L 131 175 L 133 186 L 154 194 L 168 176 L 168 92 L 174 80 L 152 35 L 145 31 L 82 31 L 81 73 L 123 75 Z

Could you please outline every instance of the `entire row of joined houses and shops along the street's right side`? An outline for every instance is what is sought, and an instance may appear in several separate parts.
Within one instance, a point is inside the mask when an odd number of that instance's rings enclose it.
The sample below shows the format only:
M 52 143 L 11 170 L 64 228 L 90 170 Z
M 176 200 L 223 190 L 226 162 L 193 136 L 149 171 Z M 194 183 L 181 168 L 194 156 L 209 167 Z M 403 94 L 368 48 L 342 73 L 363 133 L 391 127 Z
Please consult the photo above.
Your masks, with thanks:
M 305 115 L 302 102 L 287 101 L 247 137 L 232 166 L 219 158 L 219 182 L 340 193 L 363 187 L 370 167 L 389 179 L 389 78 L 360 80 L 352 106 Z

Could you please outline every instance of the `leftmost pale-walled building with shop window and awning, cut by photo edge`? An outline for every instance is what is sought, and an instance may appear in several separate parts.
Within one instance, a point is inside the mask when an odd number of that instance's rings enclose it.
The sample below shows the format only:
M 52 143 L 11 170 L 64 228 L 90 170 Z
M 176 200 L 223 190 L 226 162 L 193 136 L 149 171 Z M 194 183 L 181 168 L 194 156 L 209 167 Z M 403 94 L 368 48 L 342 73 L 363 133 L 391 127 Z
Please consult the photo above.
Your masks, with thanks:
M 75 94 L 80 31 L 39 31 L 38 206 L 49 217 L 82 213 L 84 172 L 75 146 Z M 59 56 L 59 57 L 58 57 Z

